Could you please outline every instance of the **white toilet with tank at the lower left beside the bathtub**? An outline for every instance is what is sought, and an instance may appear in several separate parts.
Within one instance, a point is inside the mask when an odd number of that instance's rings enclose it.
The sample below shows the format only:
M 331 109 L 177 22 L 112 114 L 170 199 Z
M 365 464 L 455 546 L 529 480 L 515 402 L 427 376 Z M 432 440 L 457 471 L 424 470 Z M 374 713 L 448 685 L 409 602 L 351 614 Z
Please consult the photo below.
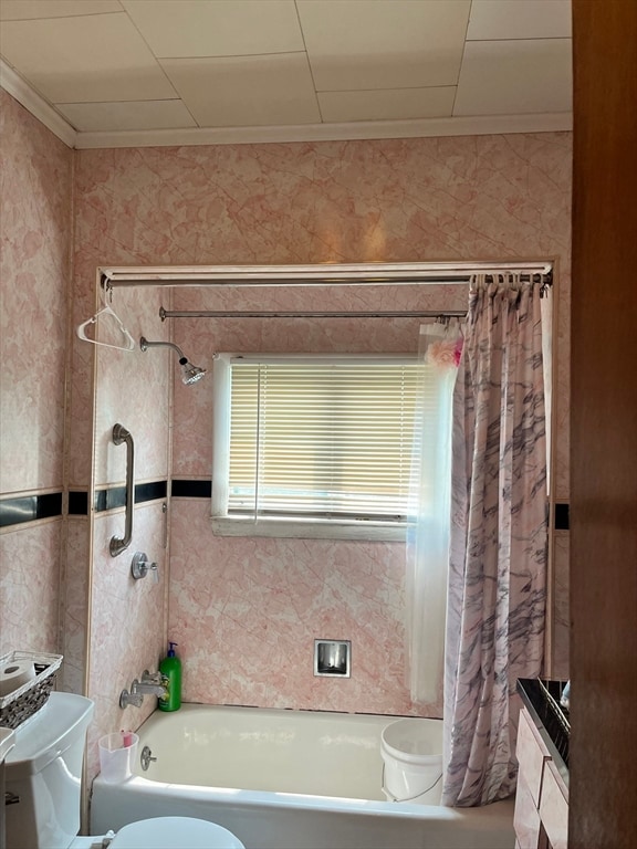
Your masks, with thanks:
M 51 693 L 14 733 L 4 763 L 7 849 L 244 849 L 228 829 L 188 817 L 143 819 L 104 837 L 77 837 L 82 761 L 93 702 Z M 103 842 L 104 841 L 104 842 Z

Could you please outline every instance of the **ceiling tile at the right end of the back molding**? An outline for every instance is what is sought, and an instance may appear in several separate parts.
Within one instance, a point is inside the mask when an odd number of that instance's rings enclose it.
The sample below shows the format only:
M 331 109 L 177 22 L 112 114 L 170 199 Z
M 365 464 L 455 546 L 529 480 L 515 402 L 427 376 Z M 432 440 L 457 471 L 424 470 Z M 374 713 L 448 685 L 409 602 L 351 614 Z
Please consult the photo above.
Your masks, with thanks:
M 453 115 L 570 112 L 571 65 L 571 39 L 467 42 Z

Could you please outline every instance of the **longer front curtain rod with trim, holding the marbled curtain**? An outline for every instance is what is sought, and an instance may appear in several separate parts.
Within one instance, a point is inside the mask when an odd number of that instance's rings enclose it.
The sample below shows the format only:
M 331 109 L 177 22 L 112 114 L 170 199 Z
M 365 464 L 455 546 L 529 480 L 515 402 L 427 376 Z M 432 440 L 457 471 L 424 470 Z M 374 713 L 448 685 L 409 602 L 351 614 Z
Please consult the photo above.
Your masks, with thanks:
M 474 274 L 515 273 L 551 283 L 552 262 L 325 263 L 321 265 L 189 265 L 98 269 L 102 286 L 378 286 L 468 284 Z

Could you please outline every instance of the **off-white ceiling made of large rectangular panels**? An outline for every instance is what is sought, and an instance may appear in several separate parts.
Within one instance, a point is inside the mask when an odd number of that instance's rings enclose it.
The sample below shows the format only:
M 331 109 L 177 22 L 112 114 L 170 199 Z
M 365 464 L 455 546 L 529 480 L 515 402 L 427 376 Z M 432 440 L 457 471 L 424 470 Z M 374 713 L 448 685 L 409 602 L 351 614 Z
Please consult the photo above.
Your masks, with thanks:
M 571 122 L 571 0 L 0 0 L 0 56 L 76 147 Z

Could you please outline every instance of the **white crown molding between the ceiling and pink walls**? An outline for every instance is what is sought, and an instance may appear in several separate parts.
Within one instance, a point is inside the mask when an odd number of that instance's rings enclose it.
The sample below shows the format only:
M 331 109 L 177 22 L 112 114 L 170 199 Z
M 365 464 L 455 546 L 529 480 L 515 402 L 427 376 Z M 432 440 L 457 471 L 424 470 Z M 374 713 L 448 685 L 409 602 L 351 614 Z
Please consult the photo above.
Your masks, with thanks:
M 292 142 L 348 142 L 435 136 L 485 136 L 555 133 L 573 129 L 570 112 L 532 115 L 474 115 L 417 120 L 357 120 L 343 124 L 297 124 L 278 127 L 197 127 L 79 133 L 15 71 L 0 59 L 0 86 L 69 147 L 79 150 L 114 147 L 184 147 L 263 145 Z

